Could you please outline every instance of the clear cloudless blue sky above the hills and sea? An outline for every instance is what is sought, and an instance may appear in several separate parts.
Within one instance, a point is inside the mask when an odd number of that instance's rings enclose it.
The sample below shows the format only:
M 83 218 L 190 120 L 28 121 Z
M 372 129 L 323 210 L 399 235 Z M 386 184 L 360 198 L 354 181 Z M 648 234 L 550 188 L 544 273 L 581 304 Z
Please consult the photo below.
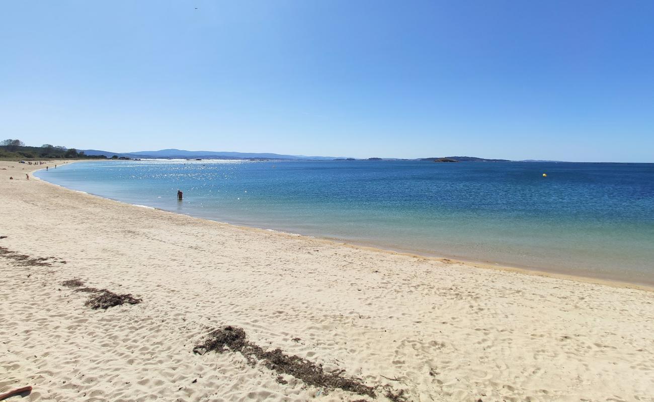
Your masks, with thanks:
M 654 1 L 2 1 L 0 137 L 654 162 Z

